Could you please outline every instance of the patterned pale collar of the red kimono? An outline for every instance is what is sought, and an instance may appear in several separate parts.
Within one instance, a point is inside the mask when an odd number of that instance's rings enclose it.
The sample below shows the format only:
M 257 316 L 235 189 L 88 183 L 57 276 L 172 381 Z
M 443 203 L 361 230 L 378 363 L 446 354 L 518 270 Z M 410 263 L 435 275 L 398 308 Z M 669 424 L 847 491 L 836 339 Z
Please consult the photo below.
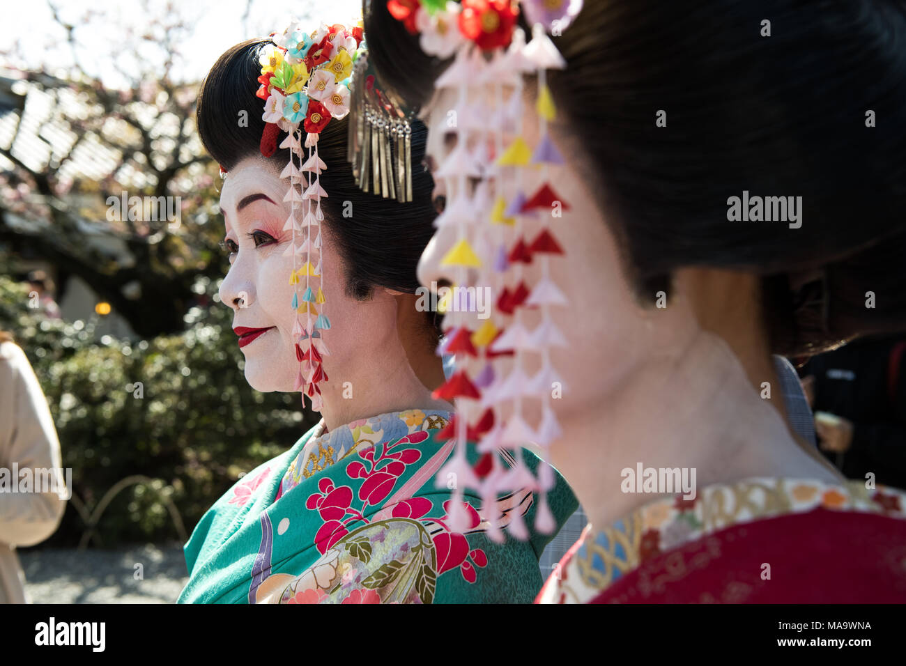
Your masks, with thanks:
M 654 500 L 612 525 L 585 526 L 582 536 L 554 567 L 536 603 L 589 603 L 638 565 L 679 546 L 732 526 L 804 514 L 817 508 L 906 519 L 906 493 L 798 478 L 748 478 L 699 488 L 697 497 Z

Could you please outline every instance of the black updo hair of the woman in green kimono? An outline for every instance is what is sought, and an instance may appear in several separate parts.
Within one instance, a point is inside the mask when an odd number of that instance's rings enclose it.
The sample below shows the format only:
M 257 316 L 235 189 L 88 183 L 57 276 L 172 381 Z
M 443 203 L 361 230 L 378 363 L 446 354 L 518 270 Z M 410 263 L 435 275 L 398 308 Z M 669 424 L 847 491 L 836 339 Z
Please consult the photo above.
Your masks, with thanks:
M 198 95 L 196 121 L 198 134 L 211 157 L 228 172 L 242 159 L 258 157 L 265 121 L 264 103 L 255 96 L 261 73 L 258 56 L 268 38 L 255 38 L 236 44 L 217 59 L 207 73 Z M 248 126 L 240 127 L 240 111 L 246 111 Z M 353 298 L 369 298 L 375 287 L 388 287 L 412 294 L 419 286 L 416 266 L 422 250 L 433 234 L 431 223 L 437 211 L 431 205 L 434 180 L 421 166 L 428 131 L 420 121 L 412 121 L 412 201 L 366 194 L 355 184 L 352 167 L 346 159 L 349 116 L 332 119 L 318 140 L 318 156 L 327 164 L 321 185 L 328 197 L 321 200 L 326 227 L 336 239 L 346 266 L 346 293 Z M 286 137 L 281 131 L 277 145 Z M 277 149 L 270 160 L 282 170 L 288 151 Z M 227 178 L 229 178 L 227 174 Z M 352 202 L 352 217 L 343 217 L 344 202 Z M 436 343 L 435 314 L 432 343 Z

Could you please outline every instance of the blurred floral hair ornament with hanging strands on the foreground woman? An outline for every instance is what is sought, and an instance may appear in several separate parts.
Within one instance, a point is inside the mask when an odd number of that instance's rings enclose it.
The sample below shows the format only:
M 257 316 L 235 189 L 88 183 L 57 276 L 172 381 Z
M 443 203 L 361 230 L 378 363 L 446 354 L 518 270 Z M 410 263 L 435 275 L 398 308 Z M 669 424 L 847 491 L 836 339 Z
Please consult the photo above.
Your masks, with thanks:
M 447 206 L 435 226 L 455 226 L 458 236 L 441 265 L 452 269 L 456 285 L 466 285 L 468 271 L 473 271 L 474 284 L 490 287 L 495 303 L 491 317 L 476 323 L 474 330 L 465 312 L 449 312 L 446 317 L 439 352 L 455 354 L 457 371 L 435 396 L 456 402 L 457 415 L 441 435 L 455 438 L 457 448 L 438 478 L 455 475 L 454 500 L 461 501 L 463 488 L 471 487 L 477 489 L 485 507 L 493 507 L 500 493 L 535 490 L 540 495 L 535 528 L 550 533 L 555 521 L 546 493 L 554 484 L 553 471 L 543 464 L 534 478 L 521 449 L 534 442 L 549 459 L 548 447 L 561 432 L 551 401 L 555 382 L 560 381 L 562 390 L 563 382 L 551 363 L 550 350 L 564 346 L 565 340 L 551 310 L 567 301 L 550 276 L 552 257 L 564 254 L 550 223 L 569 205 L 556 193 L 549 176 L 550 169 L 563 165 L 564 159 L 547 131 L 556 108 L 546 71 L 563 69 L 565 62 L 547 33 L 559 34 L 570 24 L 581 11 L 582 0 L 389 0 L 387 8 L 410 33 L 419 34 L 425 53 L 441 59 L 455 55 L 435 87 L 458 92 L 458 122 L 450 128 L 444 118 L 442 125 L 429 128 L 457 134 L 456 147 L 434 174 L 446 181 L 448 193 Z M 517 26 L 520 8 L 533 26 L 528 43 Z M 522 136 L 525 74 L 537 77 L 535 111 L 541 139 L 534 148 Z M 473 142 L 477 150 L 469 149 Z M 469 181 L 475 179 L 473 191 Z M 531 180 L 540 184 L 526 194 Z M 531 238 L 525 237 L 528 218 L 537 223 L 535 227 L 540 225 Z M 533 262 L 540 265 L 541 276 L 529 285 L 525 266 Z M 541 312 L 534 330 L 523 322 L 527 309 Z M 532 376 L 524 370 L 528 354 L 540 357 L 540 371 Z M 503 356 L 513 361 L 506 376 L 496 361 Z M 535 427 L 525 420 L 527 398 L 541 404 Z M 507 405 L 512 407 L 511 415 L 504 422 L 501 413 Z M 466 458 L 469 439 L 477 440 L 482 454 L 474 467 Z M 513 449 L 516 462 L 511 468 L 504 468 L 494 455 L 497 449 Z M 459 501 L 452 506 L 458 507 Z M 450 525 L 462 530 L 467 527 L 465 518 L 454 512 Z M 504 538 L 499 523 L 506 521 L 513 536 L 528 537 L 519 512 L 499 522 L 493 513 L 487 519 L 488 535 L 497 541 Z

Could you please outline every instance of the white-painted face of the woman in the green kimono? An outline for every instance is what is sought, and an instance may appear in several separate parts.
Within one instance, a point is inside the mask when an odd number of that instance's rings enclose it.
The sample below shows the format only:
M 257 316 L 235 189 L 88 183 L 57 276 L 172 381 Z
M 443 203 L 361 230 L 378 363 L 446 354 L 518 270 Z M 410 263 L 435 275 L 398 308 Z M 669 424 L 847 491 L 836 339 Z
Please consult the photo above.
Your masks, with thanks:
M 291 306 L 294 285 L 290 284 L 293 256 L 284 256 L 292 231 L 282 230 L 290 214 L 290 204 L 283 200 L 285 192 L 286 181 L 267 160 L 255 157 L 230 170 L 220 195 L 225 243 L 231 251 L 220 298 L 234 310 L 234 331 L 246 333 L 237 337 L 237 343 L 246 357 L 246 380 L 257 391 L 293 391 L 298 371 L 293 336 L 296 315 Z M 369 340 L 380 342 L 395 334 L 396 311 L 389 295 L 358 301 L 345 294 L 342 259 L 328 225 L 323 229 L 323 291 L 333 322 L 323 332 L 330 351 L 323 366 L 329 382 L 342 384 L 352 381 L 348 366 L 356 353 L 371 348 Z M 296 257 L 297 263 L 306 259 Z M 265 331 L 249 334 L 248 329 Z

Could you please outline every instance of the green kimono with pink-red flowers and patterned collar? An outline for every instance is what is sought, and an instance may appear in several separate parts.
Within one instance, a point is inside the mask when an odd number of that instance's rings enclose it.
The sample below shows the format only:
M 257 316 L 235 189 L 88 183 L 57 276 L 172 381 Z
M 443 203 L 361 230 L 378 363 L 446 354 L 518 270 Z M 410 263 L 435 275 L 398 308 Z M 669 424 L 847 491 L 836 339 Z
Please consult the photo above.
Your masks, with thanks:
M 469 528 L 449 530 L 451 490 L 437 477 L 453 440 L 437 434 L 451 417 L 408 410 L 307 432 L 202 517 L 185 547 L 179 603 L 532 603 L 554 534 L 534 530 L 530 489 L 496 503 L 498 525 L 518 513 L 527 541 L 492 541 L 469 489 Z M 469 462 L 478 456 L 470 445 Z M 527 450 L 523 458 L 533 472 L 545 464 Z M 559 530 L 577 502 L 554 478 L 547 501 Z

